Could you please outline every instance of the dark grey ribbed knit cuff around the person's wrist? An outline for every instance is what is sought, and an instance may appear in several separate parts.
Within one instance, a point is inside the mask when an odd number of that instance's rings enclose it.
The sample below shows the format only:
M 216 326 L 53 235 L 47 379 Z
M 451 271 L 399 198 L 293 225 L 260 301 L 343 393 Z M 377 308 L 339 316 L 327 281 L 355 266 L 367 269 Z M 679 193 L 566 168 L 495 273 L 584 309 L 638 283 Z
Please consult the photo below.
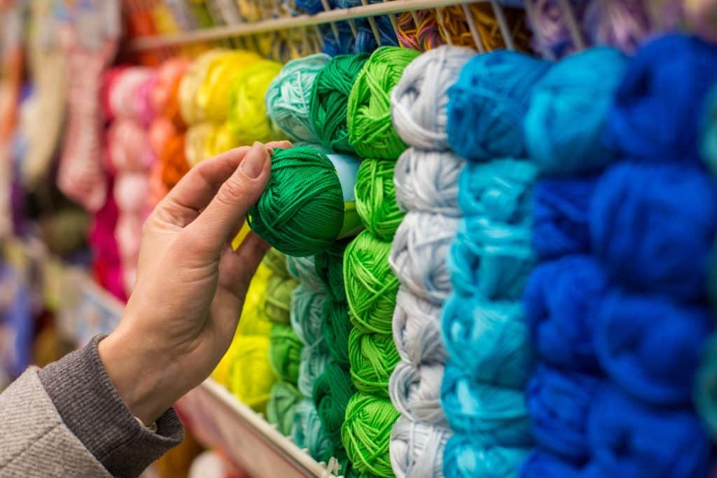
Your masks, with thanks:
M 40 381 L 67 427 L 115 477 L 136 477 L 184 439 L 174 410 L 141 426 L 118 395 L 100 360 L 95 337 L 80 350 L 47 365 Z

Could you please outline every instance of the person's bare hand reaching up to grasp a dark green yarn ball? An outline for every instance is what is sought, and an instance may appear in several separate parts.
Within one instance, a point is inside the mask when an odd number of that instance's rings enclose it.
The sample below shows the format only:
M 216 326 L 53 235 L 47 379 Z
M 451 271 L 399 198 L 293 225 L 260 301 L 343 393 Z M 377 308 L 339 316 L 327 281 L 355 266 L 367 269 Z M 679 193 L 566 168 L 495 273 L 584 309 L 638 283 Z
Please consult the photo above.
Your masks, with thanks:
M 270 148 L 290 146 L 255 143 L 202 161 L 147 219 L 134 291 L 99 345 L 110 380 L 144 423 L 204 381 L 229 348 L 269 249 L 253 232 L 236 251 L 231 241 L 269 181 Z

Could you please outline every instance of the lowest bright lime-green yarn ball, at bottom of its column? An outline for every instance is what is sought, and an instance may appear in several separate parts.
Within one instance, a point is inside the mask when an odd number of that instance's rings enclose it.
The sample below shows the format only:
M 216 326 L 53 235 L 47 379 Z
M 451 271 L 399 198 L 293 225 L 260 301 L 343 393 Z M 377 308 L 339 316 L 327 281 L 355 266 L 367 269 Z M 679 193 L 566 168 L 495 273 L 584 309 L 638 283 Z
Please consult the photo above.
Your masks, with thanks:
M 399 412 L 388 398 L 359 392 L 348 401 L 341 441 L 348 459 L 362 475 L 391 476 L 389 444 L 391 429 L 398 418 Z

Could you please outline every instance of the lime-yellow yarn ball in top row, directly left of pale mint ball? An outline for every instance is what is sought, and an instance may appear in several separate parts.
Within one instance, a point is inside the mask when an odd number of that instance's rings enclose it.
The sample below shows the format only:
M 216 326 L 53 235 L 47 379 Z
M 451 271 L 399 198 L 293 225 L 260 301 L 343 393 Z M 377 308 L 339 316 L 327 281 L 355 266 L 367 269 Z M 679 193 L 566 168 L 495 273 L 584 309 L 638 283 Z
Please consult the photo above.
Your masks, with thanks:
M 232 82 L 227 125 L 234 135 L 235 145 L 250 145 L 254 141 L 267 143 L 284 138 L 267 115 L 264 102 L 270 82 L 280 71 L 281 63 L 264 59 L 242 68 Z

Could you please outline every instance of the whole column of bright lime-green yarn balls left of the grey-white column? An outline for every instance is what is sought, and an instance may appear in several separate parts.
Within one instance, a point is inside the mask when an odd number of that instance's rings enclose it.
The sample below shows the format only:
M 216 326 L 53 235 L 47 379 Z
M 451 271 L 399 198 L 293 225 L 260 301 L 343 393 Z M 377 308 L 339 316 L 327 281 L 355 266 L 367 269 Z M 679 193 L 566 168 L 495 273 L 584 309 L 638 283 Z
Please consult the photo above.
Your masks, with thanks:
M 348 244 L 343 279 L 354 329 L 348 338 L 353 385 L 341 439 L 361 474 L 391 477 L 389 444 L 399 412 L 389 377 L 399 361 L 391 336 L 399 281 L 389 266 L 391 239 L 402 220 L 394 189 L 396 160 L 406 148 L 391 124 L 391 90 L 417 52 L 381 47 L 364 64 L 348 97 L 348 139 L 367 156 L 356 178 L 356 210 L 366 230 Z

